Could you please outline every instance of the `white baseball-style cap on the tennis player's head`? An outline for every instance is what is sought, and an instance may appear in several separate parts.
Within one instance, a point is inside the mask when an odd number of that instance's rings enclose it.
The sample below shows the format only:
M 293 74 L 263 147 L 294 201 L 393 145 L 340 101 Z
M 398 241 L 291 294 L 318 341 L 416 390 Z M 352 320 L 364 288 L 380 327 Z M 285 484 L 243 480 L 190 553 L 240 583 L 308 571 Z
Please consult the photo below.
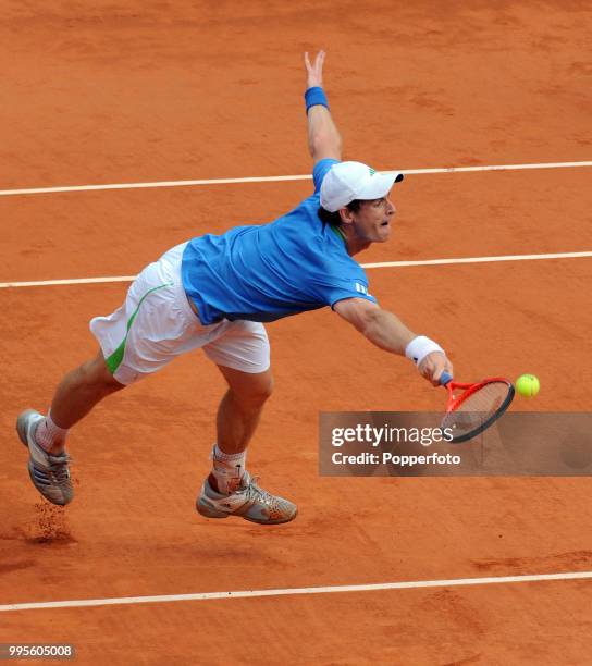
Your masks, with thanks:
M 402 173 L 379 173 L 361 162 L 338 162 L 323 178 L 321 206 L 335 212 L 354 199 L 381 199 L 400 181 Z

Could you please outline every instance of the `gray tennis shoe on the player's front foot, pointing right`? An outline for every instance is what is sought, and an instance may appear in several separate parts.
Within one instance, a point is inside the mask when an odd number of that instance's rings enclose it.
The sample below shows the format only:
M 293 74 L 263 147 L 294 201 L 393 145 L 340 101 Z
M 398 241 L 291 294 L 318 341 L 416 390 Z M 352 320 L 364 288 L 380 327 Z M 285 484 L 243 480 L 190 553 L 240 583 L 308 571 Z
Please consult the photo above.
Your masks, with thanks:
M 223 495 L 214 491 L 206 479 L 196 508 L 206 518 L 238 516 L 260 525 L 280 525 L 296 518 L 298 509 L 295 504 L 268 493 L 256 481 L 256 478 L 245 472 L 239 488 L 230 495 Z

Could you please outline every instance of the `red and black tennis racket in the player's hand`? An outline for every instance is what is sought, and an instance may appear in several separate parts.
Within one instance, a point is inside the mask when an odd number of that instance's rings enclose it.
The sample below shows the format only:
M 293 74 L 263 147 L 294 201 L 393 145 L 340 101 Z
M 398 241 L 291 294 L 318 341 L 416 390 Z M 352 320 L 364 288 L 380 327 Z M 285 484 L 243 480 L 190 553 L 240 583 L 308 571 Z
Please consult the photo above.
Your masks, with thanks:
M 454 443 L 467 442 L 486 430 L 514 399 L 514 385 L 503 377 L 464 384 L 454 382 L 447 372 L 443 372 L 440 383 L 448 391 L 442 429 L 452 429 Z

